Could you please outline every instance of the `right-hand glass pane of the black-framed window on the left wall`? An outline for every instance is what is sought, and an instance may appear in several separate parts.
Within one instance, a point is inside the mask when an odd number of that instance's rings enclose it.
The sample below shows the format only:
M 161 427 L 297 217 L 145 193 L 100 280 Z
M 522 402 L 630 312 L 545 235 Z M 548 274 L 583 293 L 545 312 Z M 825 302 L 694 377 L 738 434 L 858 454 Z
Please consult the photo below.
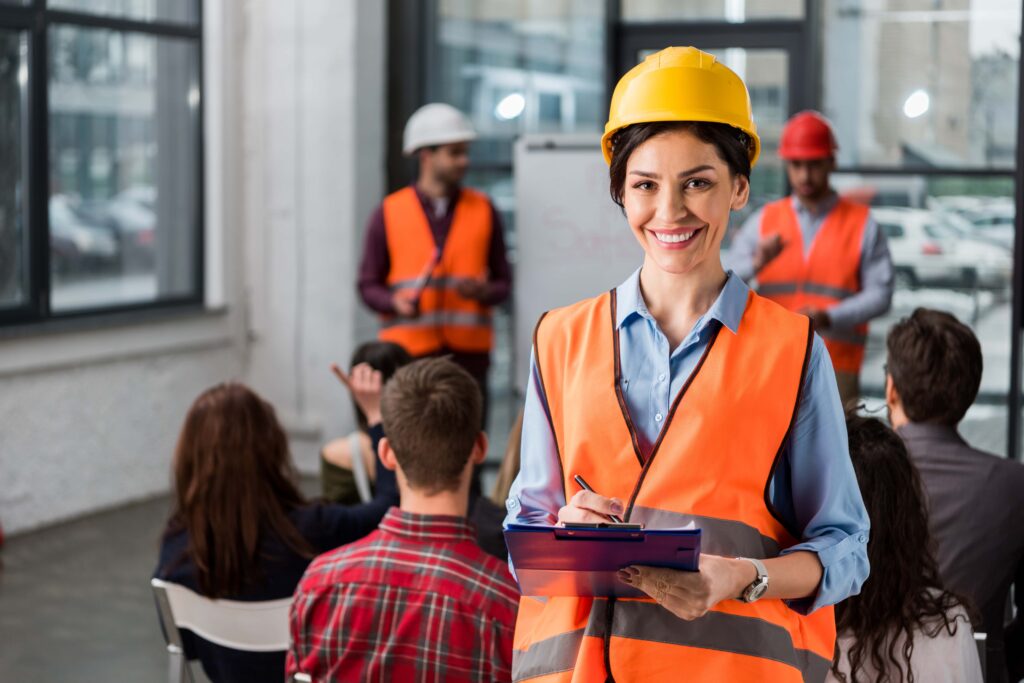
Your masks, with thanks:
M 194 294 L 196 46 L 57 27 L 49 100 L 51 308 Z

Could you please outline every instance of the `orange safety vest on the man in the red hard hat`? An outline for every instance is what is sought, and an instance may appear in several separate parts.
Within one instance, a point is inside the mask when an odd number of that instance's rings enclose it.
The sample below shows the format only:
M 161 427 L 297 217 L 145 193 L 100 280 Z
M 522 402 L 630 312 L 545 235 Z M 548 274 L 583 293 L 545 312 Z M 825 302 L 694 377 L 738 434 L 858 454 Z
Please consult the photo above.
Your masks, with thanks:
M 758 293 L 799 311 L 805 306 L 827 310 L 859 292 L 860 252 L 867 216 L 866 206 L 840 199 L 805 258 L 793 200 L 785 198 L 765 206 L 761 237 L 778 234 L 784 246 L 758 273 Z M 866 323 L 853 330 L 822 330 L 819 334 L 838 372 L 860 372 L 867 342 Z

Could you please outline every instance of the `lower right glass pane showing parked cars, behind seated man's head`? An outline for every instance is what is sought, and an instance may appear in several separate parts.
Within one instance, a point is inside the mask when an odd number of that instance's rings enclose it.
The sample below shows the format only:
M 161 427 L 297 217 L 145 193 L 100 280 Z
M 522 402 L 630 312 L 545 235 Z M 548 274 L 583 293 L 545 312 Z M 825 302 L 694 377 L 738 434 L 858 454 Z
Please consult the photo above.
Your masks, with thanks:
M 1013 294 L 1014 180 L 947 175 L 837 174 L 850 199 L 871 204 L 889 242 L 893 305 L 871 322 L 862 391 L 881 408 L 886 334 L 918 307 L 937 308 L 970 326 L 985 359 L 978 400 L 961 425 L 977 447 L 1007 452 Z

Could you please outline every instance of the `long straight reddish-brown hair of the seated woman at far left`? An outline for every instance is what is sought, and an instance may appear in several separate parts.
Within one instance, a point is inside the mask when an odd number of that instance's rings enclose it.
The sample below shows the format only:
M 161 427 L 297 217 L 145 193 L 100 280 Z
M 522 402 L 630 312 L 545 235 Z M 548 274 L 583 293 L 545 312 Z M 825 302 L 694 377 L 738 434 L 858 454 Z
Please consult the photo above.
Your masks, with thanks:
M 300 555 L 312 549 L 289 518 L 305 503 L 273 408 L 243 384 L 207 389 L 188 410 L 174 453 L 175 510 L 168 533 L 188 533 L 185 551 L 203 595 L 238 594 L 260 579 L 261 541 Z

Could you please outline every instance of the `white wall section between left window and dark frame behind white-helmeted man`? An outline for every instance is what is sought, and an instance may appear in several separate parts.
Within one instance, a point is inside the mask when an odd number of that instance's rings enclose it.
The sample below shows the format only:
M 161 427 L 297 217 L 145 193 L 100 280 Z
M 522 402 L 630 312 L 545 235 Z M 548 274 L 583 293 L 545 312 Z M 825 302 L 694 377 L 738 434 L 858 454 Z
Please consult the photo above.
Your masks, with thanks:
M 384 188 L 385 4 L 250 4 L 248 374 L 307 470 L 352 425 L 328 367 L 353 348 L 362 225 Z

